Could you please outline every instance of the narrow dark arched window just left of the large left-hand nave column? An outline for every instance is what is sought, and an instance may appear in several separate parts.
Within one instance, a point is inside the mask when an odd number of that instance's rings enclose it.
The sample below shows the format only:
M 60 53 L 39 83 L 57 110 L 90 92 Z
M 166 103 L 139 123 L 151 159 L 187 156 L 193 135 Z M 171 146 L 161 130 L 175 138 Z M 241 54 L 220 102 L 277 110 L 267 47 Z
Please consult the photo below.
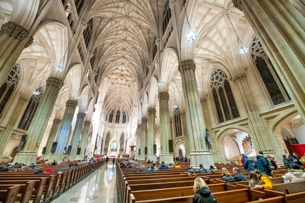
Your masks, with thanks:
M 31 99 L 29 99 L 26 109 L 23 112 L 23 115 L 17 126 L 19 129 L 27 130 L 29 125 L 32 122 L 32 119 L 33 119 L 35 112 L 37 110 L 37 107 L 39 105 L 39 101 L 43 94 L 42 87 L 38 88 L 36 91 L 39 91 L 40 94 L 38 96 L 33 94 Z

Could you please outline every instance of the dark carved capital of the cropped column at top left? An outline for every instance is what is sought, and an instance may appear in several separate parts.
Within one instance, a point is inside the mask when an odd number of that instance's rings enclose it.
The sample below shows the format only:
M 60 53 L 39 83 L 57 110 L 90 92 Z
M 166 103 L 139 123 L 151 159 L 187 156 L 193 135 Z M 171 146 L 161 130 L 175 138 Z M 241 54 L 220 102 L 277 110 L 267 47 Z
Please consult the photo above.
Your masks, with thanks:
M 28 35 L 28 30 L 20 25 L 17 25 L 11 21 L 4 23 L 1 26 L 0 35 L 7 33 L 9 36 L 15 37 L 17 40 L 22 41 Z

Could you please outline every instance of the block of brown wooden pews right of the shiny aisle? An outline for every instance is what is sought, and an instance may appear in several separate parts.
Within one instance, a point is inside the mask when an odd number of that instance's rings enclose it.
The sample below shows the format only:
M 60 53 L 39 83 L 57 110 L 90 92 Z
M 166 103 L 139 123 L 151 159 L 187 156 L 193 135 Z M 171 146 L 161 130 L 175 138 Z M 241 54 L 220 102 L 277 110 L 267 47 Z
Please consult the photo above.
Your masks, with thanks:
M 239 167 L 247 181 L 227 183 L 221 180 L 220 170 L 215 174 L 187 175 L 187 167 L 158 170 L 157 172 L 141 172 L 139 168 L 120 168 L 117 162 L 117 177 L 122 203 L 192 203 L 194 197 L 194 180 L 200 176 L 207 184 L 217 202 L 305 202 L 305 181 L 284 183 L 282 175 L 288 172 L 287 167 L 275 171 L 276 178 L 270 179 L 272 190 L 251 189 L 248 172 L 238 165 L 225 165 L 229 171 Z M 221 164 L 216 164 L 218 167 Z M 218 168 L 219 169 L 219 168 Z M 234 177 L 234 174 L 232 174 Z

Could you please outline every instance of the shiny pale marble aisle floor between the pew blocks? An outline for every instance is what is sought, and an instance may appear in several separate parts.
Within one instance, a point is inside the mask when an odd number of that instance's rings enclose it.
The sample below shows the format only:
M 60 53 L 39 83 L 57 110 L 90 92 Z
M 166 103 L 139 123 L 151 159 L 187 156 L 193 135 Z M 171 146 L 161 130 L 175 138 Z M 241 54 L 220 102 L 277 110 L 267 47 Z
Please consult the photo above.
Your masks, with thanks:
M 97 171 L 70 188 L 52 203 L 103 202 L 117 203 L 115 165 L 109 161 Z

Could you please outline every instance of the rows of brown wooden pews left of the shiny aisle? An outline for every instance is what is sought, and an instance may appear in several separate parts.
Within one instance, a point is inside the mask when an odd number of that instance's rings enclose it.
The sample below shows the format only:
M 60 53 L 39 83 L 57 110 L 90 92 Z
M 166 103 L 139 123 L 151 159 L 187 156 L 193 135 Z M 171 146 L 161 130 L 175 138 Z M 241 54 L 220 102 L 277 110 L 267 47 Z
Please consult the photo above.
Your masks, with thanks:
M 0 201 L 4 203 L 50 202 L 105 162 L 101 160 L 93 164 L 78 163 L 78 166 L 73 166 L 71 169 L 67 168 L 68 163 L 44 166 L 38 164 L 34 168 L 0 172 Z M 38 166 L 42 167 L 43 172 L 52 167 L 54 173 L 34 174 Z

